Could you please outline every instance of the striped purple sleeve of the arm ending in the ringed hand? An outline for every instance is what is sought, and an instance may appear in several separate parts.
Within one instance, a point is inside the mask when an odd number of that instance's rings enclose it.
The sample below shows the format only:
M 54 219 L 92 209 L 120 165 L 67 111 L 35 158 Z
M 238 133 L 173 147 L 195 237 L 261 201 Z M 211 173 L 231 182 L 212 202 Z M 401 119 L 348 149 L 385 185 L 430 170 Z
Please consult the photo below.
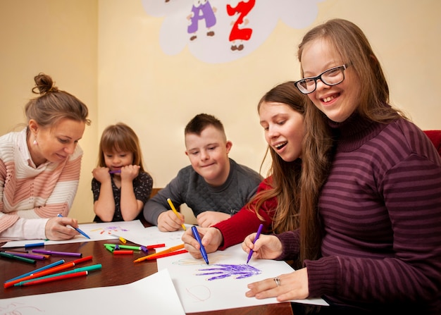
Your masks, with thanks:
M 311 297 L 420 304 L 437 299 L 441 288 L 440 166 L 411 154 L 389 170 L 379 183 L 379 192 L 392 223 L 395 256 L 305 261 Z

